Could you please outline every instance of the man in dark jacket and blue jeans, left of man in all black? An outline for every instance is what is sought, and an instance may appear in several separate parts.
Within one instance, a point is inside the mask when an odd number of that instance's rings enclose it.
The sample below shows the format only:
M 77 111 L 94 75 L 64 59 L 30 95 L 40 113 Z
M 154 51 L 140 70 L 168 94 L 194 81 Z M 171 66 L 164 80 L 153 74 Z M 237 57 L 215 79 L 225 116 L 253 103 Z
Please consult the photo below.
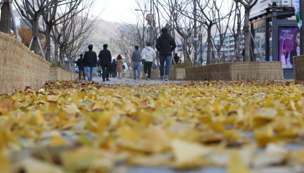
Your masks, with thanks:
M 89 51 L 86 51 L 83 55 L 83 65 L 85 66 L 88 80 L 92 81 L 93 78 L 93 68 L 97 64 L 97 55 L 96 52 L 92 51 L 93 45 L 88 46 Z

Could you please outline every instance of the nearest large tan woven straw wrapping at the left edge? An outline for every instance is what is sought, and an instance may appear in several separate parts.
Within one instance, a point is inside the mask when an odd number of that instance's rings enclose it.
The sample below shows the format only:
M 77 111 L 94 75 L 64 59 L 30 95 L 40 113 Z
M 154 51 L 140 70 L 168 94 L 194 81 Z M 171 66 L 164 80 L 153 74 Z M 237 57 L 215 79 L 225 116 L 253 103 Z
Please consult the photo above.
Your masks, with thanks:
M 0 32 L 0 93 L 43 86 L 49 79 L 50 65 L 23 43 Z

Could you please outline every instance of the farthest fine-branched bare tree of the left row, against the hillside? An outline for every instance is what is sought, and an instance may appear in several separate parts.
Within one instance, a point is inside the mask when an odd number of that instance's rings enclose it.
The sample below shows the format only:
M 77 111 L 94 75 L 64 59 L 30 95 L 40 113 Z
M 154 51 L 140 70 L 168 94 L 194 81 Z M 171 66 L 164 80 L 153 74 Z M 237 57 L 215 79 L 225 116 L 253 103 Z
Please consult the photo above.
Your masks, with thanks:
M 88 39 L 89 35 L 96 27 L 96 18 L 90 19 L 91 16 L 88 12 L 93 6 L 92 1 L 87 0 L 87 3 L 82 3 L 78 8 L 70 12 L 70 15 L 66 15 L 60 21 L 59 25 L 54 25 L 52 30 L 52 38 L 55 43 L 55 56 L 58 56 L 59 60 L 63 62 L 65 58 L 68 59 L 68 67 L 72 67 L 73 60 L 79 53 L 83 43 Z M 72 4 L 68 4 L 72 5 Z M 69 8 L 69 7 L 67 7 Z M 86 9 L 84 11 L 84 9 Z M 80 12 L 79 12 L 80 11 Z M 74 68 L 70 69 L 74 71 Z

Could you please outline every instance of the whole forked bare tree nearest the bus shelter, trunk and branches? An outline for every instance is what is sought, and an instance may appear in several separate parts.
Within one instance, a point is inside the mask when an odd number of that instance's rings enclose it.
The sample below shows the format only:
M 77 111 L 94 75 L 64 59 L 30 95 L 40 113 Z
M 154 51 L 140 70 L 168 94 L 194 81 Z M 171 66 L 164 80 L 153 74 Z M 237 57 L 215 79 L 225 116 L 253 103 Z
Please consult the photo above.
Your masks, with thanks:
M 253 6 L 256 4 L 257 0 L 234 0 L 236 2 L 240 2 L 245 9 L 245 14 L 244 14 L 244 26 L 243 26 L 243 31 L 244 31 L 244 43 L 245 43 L 245 50 L 244 50 L 244 62 L 249 62 L 250 61 L 250 41 L 251 41 L 251 36 L 250 36 L 250 26 L 249 26 L 249 18 L 250 18 L 250 11 L 253 8 Z

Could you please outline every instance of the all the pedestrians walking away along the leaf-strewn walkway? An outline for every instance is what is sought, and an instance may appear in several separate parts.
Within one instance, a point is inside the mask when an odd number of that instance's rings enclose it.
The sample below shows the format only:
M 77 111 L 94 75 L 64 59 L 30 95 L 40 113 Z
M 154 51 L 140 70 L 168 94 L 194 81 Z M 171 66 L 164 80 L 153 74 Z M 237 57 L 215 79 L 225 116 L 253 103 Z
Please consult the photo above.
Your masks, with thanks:
M 160 64 L 160 80 L 169 80 L 169 71 L 170 71 L 170 62 L 172 59 L 172 51 L 176 48 L 176 43 L 174 38 L 168 34 L 167 28 L 161 29 L 161 35 L 157 38 L 155 48 L 159 52 L 159 64 Z M 89 81 L 92 81 L 93 78 L 93 68 L 98 65 L 99 68 L 99 77 L 102 76 L 102 81 L 109 81 L 109 76 L 111 73 L 111 52 L 107 49 L 108 45 L 103 44 L 103 50 L 99 52 L 97 61 L 97 54 L 94 52 L 93 45 L 88 46 L 89 51 L 86 51 L 83 55 L 80 55 L 80 58 L 77 61 L 77 66 L 79 68 L 79 80 L 81 78 L 81 72 L 83 73 L 83 79 L 85 79 L 85 71 L 87 73 L 87 78 Z M 156 52 L 151 47 L 151 43 L 147 43 L 145 48 L 140 51 L 139 46 L 135 46 L 135 50 L 132 53 L 131 60 L 133 62 L 133 75 L 134 80 L 140 79 L 141 65 L 144 65 L 144 72 L 146 80 L 151 78 L 151 68 L 155 66 L 154 60 L 156 58 Z M 178 61 L 178 60 L 177 60 Z M 122 78 L 123 69 L 123 59 L 121 55 L 117 56 L 116 62 L 113 61 L 116 65 L 116 72 L 118 73 L 118 79 Z M 112 63 L 112 64 L 113 64 Z M 164 75 L 165 67 L 165 75 Z M 101 73 L 102 71 L 102 73 Z M 115 72 L 115 73 L 116 73 Z M 113 77 L 113 73 L 112 73 Z M 115 76 L 114 76 L 115 77 Z

